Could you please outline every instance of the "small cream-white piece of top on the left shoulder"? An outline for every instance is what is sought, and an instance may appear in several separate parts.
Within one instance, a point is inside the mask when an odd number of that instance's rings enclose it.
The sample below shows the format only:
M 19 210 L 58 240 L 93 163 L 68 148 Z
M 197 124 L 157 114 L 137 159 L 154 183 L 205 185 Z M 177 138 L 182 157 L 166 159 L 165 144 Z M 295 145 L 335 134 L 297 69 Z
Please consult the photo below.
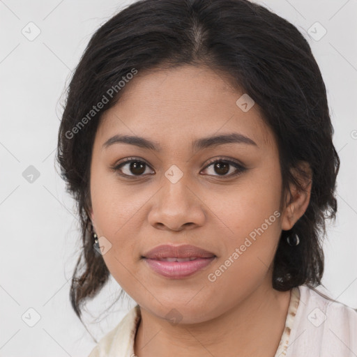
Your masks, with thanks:
M 88 357 L 133 356 L 135 333 L 140 316 L 139 305 L 136 305 L 118 325 L 100 339 Z

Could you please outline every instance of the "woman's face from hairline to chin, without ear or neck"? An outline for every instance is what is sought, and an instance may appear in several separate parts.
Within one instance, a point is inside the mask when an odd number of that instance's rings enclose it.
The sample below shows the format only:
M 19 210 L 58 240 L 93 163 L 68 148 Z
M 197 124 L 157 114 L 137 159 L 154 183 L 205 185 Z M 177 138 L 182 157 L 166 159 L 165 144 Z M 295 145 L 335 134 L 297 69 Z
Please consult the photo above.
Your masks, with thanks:
M 175 308 L 183 322 L 206 321 L 271 287 L 269 267 L 289 229 L 278 147 L 242 95 L 213 70 L 182 66 L 139 73 L 102 116 L 91 161 L 93 226 L 110 273 L 157 317 Z M 107 142 L 115 135 L 152 147 Z M 231 137 L 202 140 L 220 135 Z M 143 257 L 160 245 L 194 245 L 211 258 L 149 264 Z

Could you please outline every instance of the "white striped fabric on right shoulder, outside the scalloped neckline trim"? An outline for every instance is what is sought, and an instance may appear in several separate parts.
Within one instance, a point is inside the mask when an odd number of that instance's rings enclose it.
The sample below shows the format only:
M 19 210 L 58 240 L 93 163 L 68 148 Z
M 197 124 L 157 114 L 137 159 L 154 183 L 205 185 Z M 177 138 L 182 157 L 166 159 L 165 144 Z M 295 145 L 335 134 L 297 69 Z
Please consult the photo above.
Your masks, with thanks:
M 357 310 L 301 285 L 288 356 L 356 356 Z

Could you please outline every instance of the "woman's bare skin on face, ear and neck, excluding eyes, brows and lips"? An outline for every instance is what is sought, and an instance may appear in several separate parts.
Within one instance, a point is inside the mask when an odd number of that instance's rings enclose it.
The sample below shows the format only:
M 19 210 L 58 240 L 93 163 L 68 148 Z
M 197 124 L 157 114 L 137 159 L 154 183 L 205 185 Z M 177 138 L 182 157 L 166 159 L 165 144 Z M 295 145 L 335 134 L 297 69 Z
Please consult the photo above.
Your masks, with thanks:
M 146 356 L 274 356 L 284 329 L 291 291 L 273 289 L 272 264 L 282 229 L 290 229 L 310 200 L 291 186 L 280 210 L 282 179 L 273 132 L 255 104 L 248 112 L 236 105 L 243 91 L 204 66 L 181 66 L 139 73 L 126 84 L 117 104 L 102 115 L 91 161 L 91 218 L 98 237 L 112 247 L 103 255 L 110 273 L 139 304 L 142 319 L 135 354 Z M 249 144 L 223 144 L 193 152 L 193 140 L 238 132 Z M 139 135 L 162 151 L 131 144 L 102 145 L 115 134 Z M 146 162 L 142 176 L 111 167 L 123 158 Z M 220 174 L 211 159 L 231 159 Z M 179 167 L 172 183 L 165 172 Z M 302 163 L 302 165 L 305 165 Z M 306 165 L 305 165 L 306 167 Z M 145 170 L 145 171 L 144 171 Z M 230 175 L 230 176 L 229 176 Z M 275 211 L 280 217 L 257 236 L 217 280 L 208 280 L 249 234 Z M 217 258 L 184 279 L 154 273 L 141 259 L 166 243 L 192 244 Z M 165 317 L 176 309 L 181 317 Z

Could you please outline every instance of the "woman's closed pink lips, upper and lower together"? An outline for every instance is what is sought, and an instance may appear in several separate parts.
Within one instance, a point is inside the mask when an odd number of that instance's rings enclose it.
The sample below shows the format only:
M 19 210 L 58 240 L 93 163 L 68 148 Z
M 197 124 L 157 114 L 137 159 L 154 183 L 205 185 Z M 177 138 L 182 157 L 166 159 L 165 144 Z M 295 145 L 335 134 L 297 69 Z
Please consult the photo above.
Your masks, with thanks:
M 159 245 L 144 254 L 153 271 L 167 278 L 185 278 L 208 266 L 215 255 L 194 245 Z

